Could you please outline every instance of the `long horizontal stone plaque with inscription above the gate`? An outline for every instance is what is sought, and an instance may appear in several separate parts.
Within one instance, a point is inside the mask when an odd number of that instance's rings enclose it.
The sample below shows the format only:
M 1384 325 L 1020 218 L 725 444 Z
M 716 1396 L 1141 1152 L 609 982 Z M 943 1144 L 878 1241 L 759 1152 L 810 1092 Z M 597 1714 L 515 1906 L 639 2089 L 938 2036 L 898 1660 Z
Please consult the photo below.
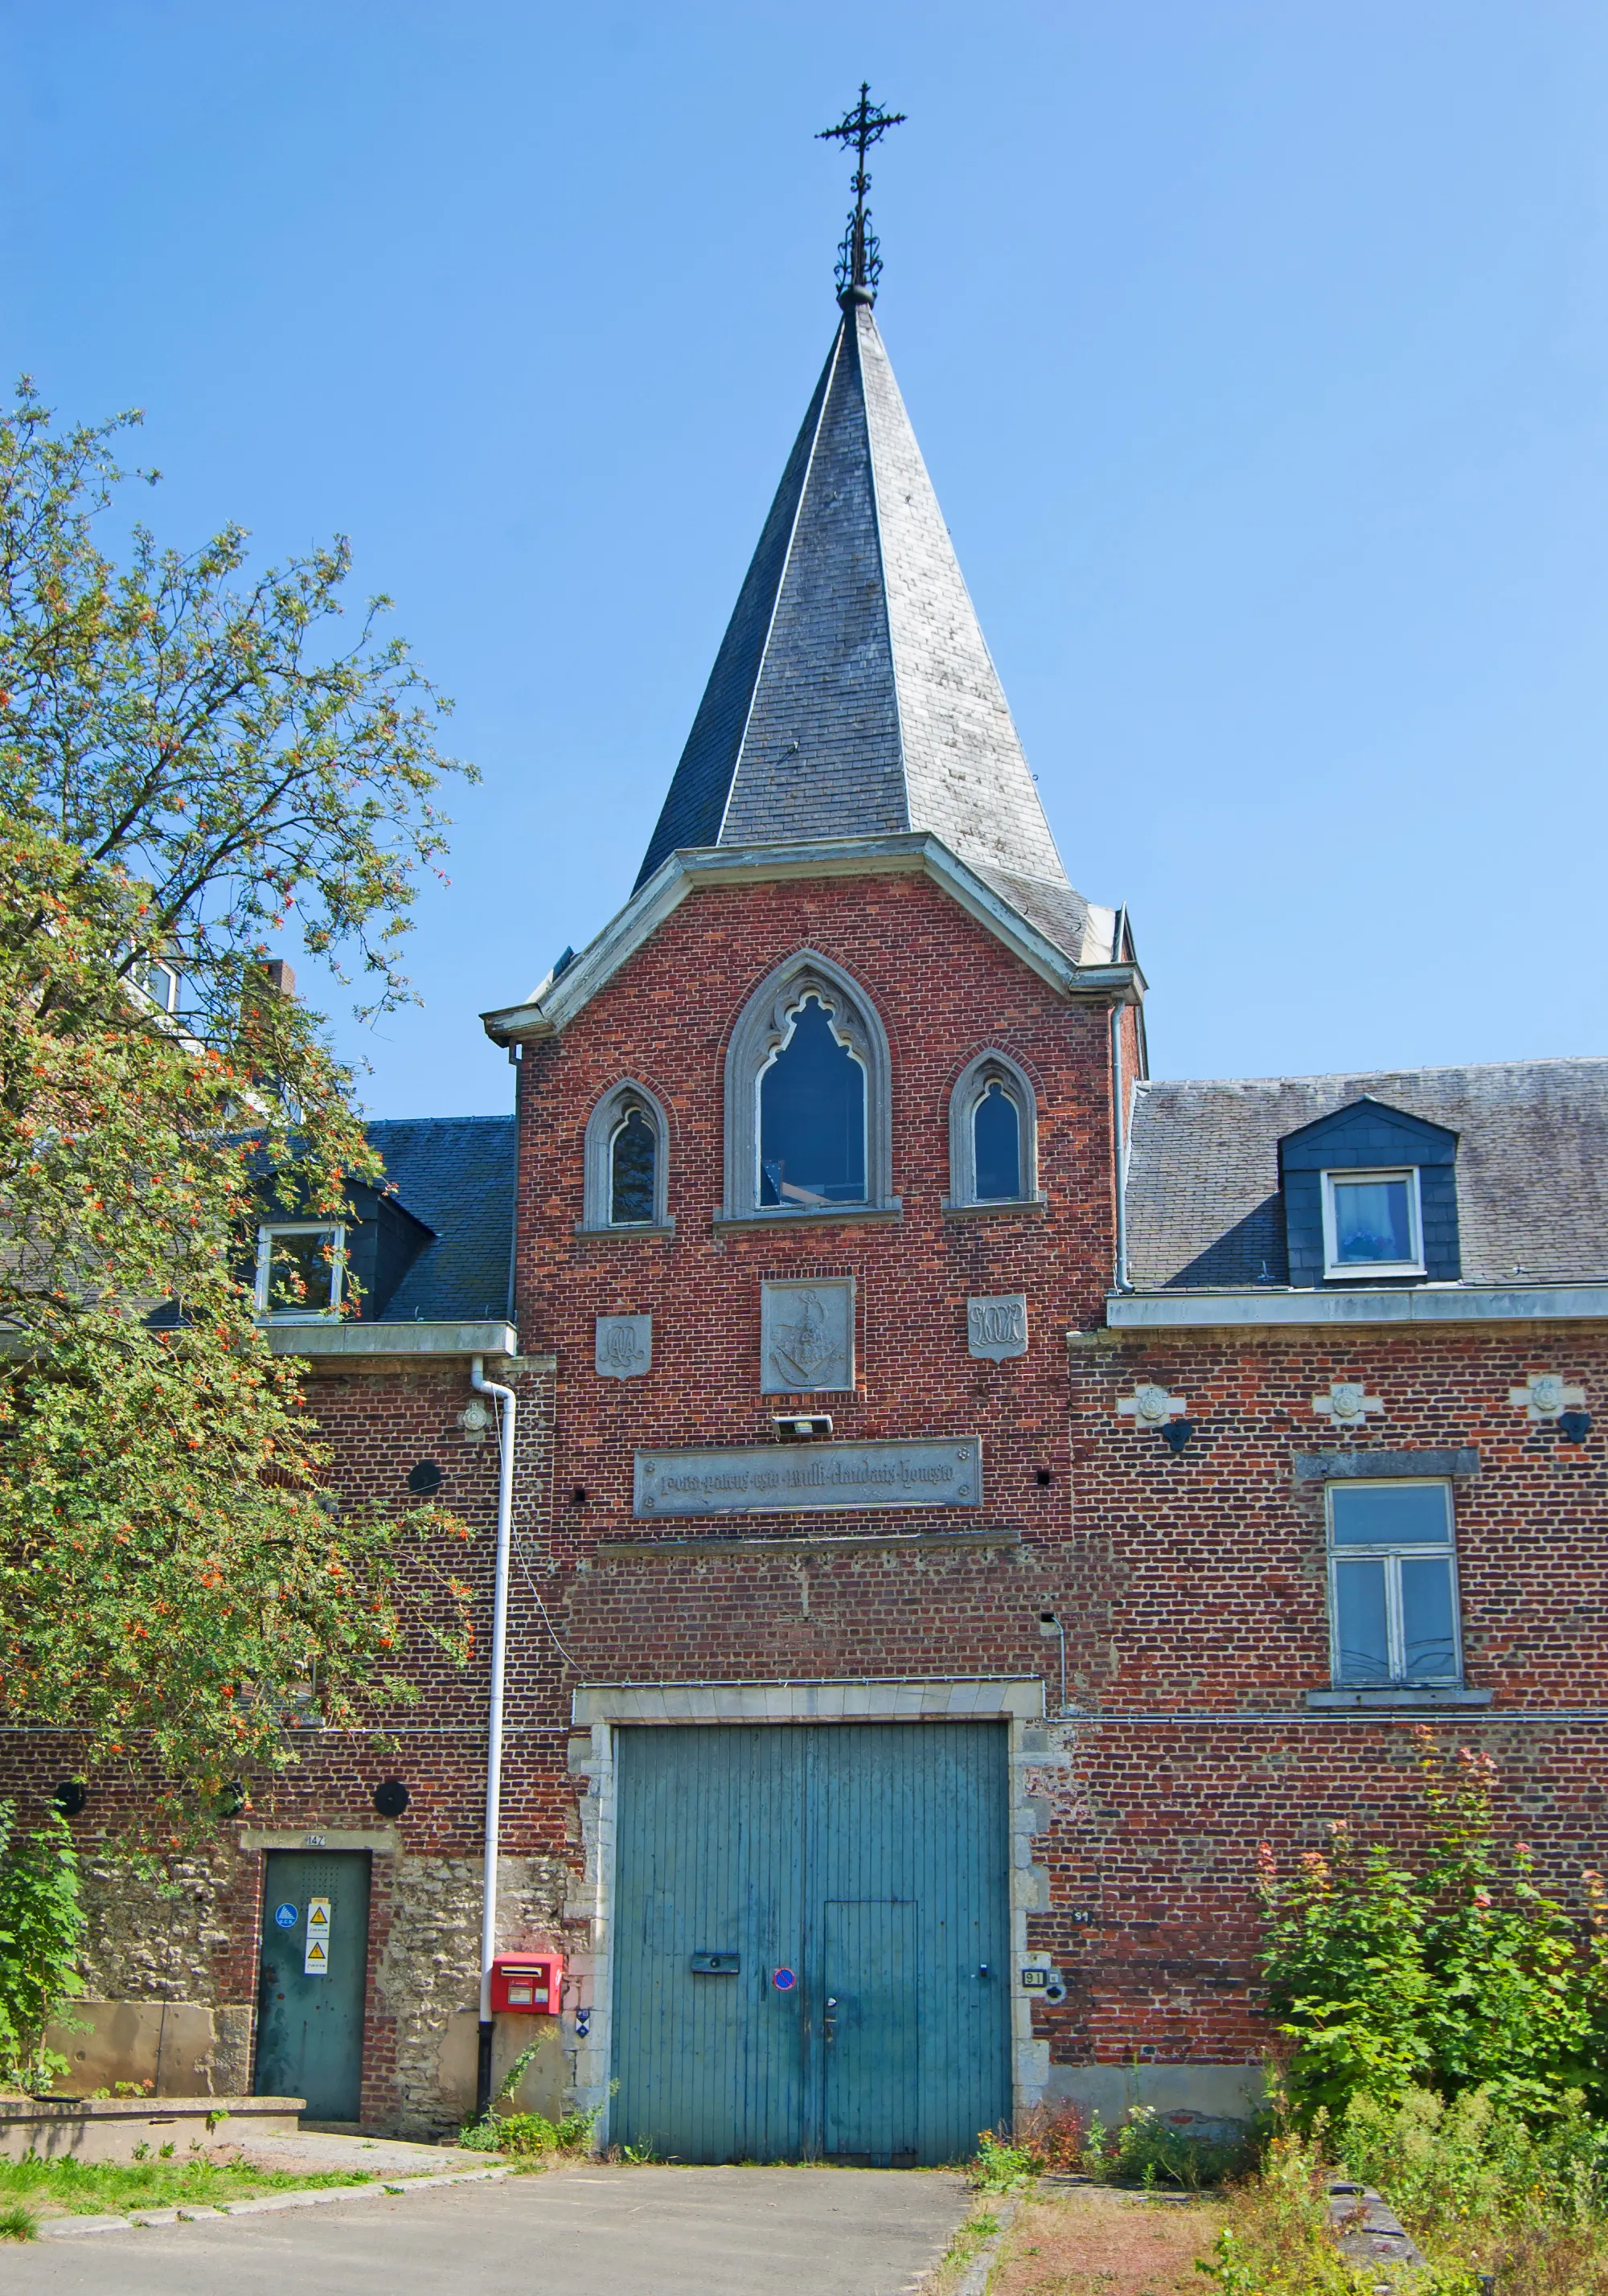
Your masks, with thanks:
M 639 1451 L 639 1515 L 820 1515 L 841 1506 L 981 1506 L 983 1440 Z

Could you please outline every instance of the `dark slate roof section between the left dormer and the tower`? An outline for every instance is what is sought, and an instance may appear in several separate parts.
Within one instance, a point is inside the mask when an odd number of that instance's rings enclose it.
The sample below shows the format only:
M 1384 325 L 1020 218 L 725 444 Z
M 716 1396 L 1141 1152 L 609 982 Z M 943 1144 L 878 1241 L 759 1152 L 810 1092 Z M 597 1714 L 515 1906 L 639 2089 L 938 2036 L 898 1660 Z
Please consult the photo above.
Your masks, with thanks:
M 370 1123 L 397 1203 L 436 1231 L 379 1322 L 508 1313 L 515 1235 L 515 1118 L 400 1116 Z

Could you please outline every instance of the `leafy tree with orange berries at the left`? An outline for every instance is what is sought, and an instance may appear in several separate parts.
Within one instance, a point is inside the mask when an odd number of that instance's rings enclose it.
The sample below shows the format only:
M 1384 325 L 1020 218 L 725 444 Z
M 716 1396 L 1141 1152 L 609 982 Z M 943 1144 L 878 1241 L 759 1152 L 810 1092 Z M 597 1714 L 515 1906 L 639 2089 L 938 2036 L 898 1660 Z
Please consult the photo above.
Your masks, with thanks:
M 345 544 L 243 581 L 237 528 L 136 526 L 113 565 L 129 420 L 0 418 L 0 1715 L 177 1812 L 289 1759 L 287 1704 L 349 1724 L 409 1697 L 411 1637 L 466 1646 L 462 1525 L 331 1511 L 250 1293 L 264 1173 L 303 1215 L 379 1178 L 269 934 L 404 1001 L 462 769 L 386 602 L 342 638 Z

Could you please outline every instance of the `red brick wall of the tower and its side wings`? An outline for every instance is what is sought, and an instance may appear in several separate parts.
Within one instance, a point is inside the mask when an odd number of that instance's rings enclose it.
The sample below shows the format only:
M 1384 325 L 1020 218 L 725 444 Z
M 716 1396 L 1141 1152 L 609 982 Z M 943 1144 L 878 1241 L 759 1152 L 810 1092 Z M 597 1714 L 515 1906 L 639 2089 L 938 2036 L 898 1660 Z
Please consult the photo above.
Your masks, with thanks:
M 717 1231 L 724 1054 L 751 990 L 813 946 L 875 1003 L 891 1047 L 894 1192 L 900 1221 Z M 983 1047 L 1038 1093 L 1038 1182 L 1050 1217 L 944 1219 L 949 1088 Z M 1126 1061 L 1132 1061 L 1132 1033 Z M 671 1118 L 675 1235 L 579 1238 L 581 1137 L 620 1077 Z M 985 1504 L 802 1520 L 639 1525 L 632 1453 L 650 1444 L 770 1440 L 760 1394 L 760 1279 L 857 1279 L 857 1389 L 827 1407 L 841 1435 L 981 1433 Z M 1335 1816 L 1415 1828 L 1417 1715 L 1312 1713 L 1328 1683 L 1323 1513 L 1293 1479 L 1298 1451 L 1475 1446 L 1456 1534 L 1468 1678 L 1489 1711 L 1433 1715 L 1443 1738 L 1489 1745 L 1516 1821 L 1574 1885 L 1601 1862 L 1608 1538 L 1603 1437 L 1562 1444 L 1507 1401 L 1534 1368 L 1608 1394 L 1590 1325 L 1410 1332 L 1100 1334 L 1112 1272 L 1110 1013 L 1070 1006 L 919 877 L 758 884 L 694 893 L 625 971 L 521 1063 L 519 1320 L 558 1371 L 524 1378 L 510 1637 L 510 1857 L 579 1867 L 577 1782 L 565 1770 L 581 1681 L 1036 1674 L 1084 1711 L 1052 1724 L 1041 1791 L 1052 1908 L 1031 1945 L 1064 1963 L 1070 1998 L 1038 2011 L 1054 2055 L 1254 2060 L 1259 1839 L 1293 1848 Z M 1029 1300 L 1029 1355 L 972 1362 L 969 1293 Z M 652 1371 L 600 1380 L 593 1318 L 655 1318 Z M 1135 1382 L 1185 1398 L 1192 1440 L 1172 1453 L 1119 1414 Z M 1362 1380 L 1383 1412 L 1335 1433 L 1312 1398 Z M 315 1407 L 349 1495 L 395 1499 L 416 1458 L 448 1469 L 443 1499 L 482 1529 L 489 1580 L 494 1446 L 469 1446 L 462 1366 L 324 1378 Z M 1041 1483 L 1038 1476 L 1050 1481 Z M 574 1490 L 586 1499 L 577 1502 Z M 995 1548 L 806 1541 L 990 1527 Z M 687 1552 L 685 1536 L 781 1538 L 776 1550 Z M 662 1552 L 655 1552 L 655 1545 Z M 482 1609 L 489 1628 L 489 1605 Z M 372 1784 L 402 1775 L 404 1844 L 480 1846 L 485 1665 L 420 1660 L 425 1704 L 395 1750 L 308 1747 L 260 1795 L 264 1825 L 372 1825 Z M 37 1754 L 37 1777 L 71 1763 Z M 87 1814 L 90 1816 L 90 1814 Z M 255 1869 L 255 1862 L 248 1862 Z M 379 1883 L 377 1862 L 377 1883 Z M 255 1899 L 232 1883 L 221 1998 L 255 1984 Z M 250 1906 L 248 1906 L 250 1899 Z M 377 1892 L 374 1952 L 391 1919 Z M 579 1938 L 572 1942 L 581 1942 Z M 243 1993 L 241 1993 L 243 1988 Z M 374 2027 L 372 2110 L 391 2041 Z

